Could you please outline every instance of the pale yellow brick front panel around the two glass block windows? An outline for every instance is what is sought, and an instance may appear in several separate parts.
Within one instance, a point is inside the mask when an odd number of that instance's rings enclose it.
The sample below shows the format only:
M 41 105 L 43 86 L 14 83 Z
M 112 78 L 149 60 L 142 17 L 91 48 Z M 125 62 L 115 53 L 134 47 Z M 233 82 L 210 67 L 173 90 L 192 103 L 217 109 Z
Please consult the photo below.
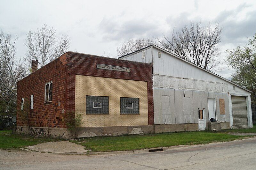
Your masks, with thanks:
M 86 95 L 108 96 L 109 114 L 86 115 Z M 120 97 L 140 98 L 139 115 L 120 115 Z M 76 75 L 75 111 L 82 127 L 148 125 L 147 82 Z

